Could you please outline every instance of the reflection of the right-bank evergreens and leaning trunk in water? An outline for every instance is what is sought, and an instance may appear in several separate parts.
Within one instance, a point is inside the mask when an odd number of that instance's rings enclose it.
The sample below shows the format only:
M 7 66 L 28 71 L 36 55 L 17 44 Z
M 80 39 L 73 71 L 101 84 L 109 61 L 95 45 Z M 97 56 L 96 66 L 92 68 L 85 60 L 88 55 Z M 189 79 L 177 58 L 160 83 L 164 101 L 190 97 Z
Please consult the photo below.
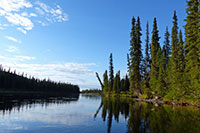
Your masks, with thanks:
M 191 107 L 158 106 L 131 99 L 102 98 L 94 115 L 102 108 L 101 116 L 107 122 L 107 132 L 112 129 L 113 120 L 124 117 L 127 132 L 134 133 L 196 133 L 200 132 L 200 112 Z

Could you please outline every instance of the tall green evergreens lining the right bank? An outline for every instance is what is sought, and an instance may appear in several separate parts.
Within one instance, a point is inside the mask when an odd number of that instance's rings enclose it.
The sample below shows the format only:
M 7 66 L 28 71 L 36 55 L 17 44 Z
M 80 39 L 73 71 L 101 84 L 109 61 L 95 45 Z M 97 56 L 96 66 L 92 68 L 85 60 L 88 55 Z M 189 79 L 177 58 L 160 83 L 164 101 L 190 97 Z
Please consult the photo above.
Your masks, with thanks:
M 107 92 L 129 91 L 138 97 L 163 98 L 178 101 L 200 102 L 200 1 L 187 1 L 185 38 L 178 27 L 176 11 L 171 33 L 166 27 L 164 43 L 159 42 L 157 20 L 154 18 L 151 40 L 146 25 L 145 55 L 142 54 L 140 18 L 133 17 L 130 49 L 127 54 L 128 75 L 114 76 L 110 56 L 109 76 L 104 73 Z

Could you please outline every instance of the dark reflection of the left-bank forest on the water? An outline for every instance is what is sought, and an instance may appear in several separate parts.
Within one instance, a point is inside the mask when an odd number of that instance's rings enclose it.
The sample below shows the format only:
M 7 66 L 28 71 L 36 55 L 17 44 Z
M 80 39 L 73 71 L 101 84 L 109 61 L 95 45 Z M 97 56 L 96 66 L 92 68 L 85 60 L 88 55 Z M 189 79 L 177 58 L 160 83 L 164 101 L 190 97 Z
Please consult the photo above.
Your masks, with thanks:
M 50 94 L 0 94 L 0 113 L 11 113 L 22 109 L 30 109 L 36 105 L 47 107 L 51 104 L 63 104 L 75 102 L 79 94 L 74 95 L 50 95 Z

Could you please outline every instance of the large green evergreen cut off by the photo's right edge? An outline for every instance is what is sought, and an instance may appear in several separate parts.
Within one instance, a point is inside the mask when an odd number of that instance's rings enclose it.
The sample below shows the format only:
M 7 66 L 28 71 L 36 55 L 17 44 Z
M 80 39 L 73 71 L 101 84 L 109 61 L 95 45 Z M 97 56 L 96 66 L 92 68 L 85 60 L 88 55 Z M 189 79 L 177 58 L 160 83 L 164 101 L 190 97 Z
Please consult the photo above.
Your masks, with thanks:
M 199 0 L 187 1 L 185 25 L 185 72 L 187 88 L 200 98 L 200 10 Z M 194 97 L 194 96 L 193 96 Z M 195 98 L 195 97 L 194 97 Z

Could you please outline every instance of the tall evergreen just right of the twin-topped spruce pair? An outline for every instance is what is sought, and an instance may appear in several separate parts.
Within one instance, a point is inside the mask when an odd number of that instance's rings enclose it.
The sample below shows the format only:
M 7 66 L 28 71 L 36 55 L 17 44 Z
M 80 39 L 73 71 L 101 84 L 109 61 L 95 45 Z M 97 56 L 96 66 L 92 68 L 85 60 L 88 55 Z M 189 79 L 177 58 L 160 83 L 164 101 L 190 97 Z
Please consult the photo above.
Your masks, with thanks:
M 154 18 L 153 31 L 152 31 L 152 40 L 151 40 L 151 71 L 150 71 L 150 87 L 153 94 L 157 94 L 159 91 L 158 88 L 158 77 L 159 77 L 159 63 L 160 63 L 160 54 L 161 48 L 159 43 L 159 35 L 157 28 L 157 20 Z

